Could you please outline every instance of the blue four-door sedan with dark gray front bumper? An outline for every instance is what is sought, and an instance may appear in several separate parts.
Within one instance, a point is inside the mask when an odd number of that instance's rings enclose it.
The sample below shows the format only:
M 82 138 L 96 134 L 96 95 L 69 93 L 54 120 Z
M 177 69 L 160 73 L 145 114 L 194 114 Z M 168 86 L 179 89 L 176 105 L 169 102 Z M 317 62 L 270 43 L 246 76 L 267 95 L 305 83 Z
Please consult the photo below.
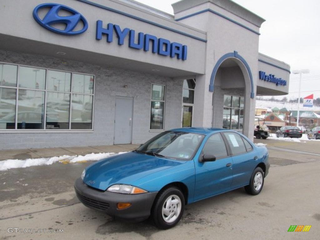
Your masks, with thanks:
M 241 133 L 179 128 L 91 164 L 75 191 L 87 207 L 123 219 L 151 216 L 167 229 L 180 221 L 186 204 L 241 187 L 259 194 L 269 167 L 267 148 Z

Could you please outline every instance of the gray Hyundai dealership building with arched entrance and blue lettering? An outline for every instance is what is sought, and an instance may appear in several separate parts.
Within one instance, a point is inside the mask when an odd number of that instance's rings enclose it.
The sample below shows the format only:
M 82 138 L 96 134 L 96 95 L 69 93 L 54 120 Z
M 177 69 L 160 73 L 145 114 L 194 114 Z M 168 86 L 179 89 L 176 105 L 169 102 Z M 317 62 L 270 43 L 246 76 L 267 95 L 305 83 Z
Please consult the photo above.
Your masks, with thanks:
M 138 144 L 193 126 L 253 138 L 255 97 L 289 88 L 290 66 L 258 52 L 265 20 L 230 0 L 172 7 L 2 0 L 0 149 Z

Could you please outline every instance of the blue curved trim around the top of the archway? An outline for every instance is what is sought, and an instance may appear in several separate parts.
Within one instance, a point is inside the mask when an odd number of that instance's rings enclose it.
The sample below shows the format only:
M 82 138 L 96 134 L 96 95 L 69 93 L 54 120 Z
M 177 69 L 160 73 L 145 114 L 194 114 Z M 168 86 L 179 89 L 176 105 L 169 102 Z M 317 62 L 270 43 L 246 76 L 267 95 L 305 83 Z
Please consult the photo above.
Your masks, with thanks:
M 237 58 L 239 59 L 244 66 L 247 68 L 247 71 L 249 73 L 249 77 L 250 77 L 250 83 L 251 83 L 251 94 L 250 97 L 254 98 L 254 87 L 253 87 L 253 78 L 252 78 L 252 73 L 249 67 L 249 64 L 246 62 L 246 60 L 241 57 L 238 52 L 234 51 L 234 52 L 229 52 L 227 54 L 224 54 L 216 63 L 216 65 L 214 66 L 213 70 L 212 70 L 212 74 L 211 74 L 211 78 L 210 78 L 210 85 L 209 85 L 209 91 L 213 92 L 214 91 L 214 78 L 216 77 L 218 68 L 220 67 L 221 63 L 228 59 L 228 58 Z

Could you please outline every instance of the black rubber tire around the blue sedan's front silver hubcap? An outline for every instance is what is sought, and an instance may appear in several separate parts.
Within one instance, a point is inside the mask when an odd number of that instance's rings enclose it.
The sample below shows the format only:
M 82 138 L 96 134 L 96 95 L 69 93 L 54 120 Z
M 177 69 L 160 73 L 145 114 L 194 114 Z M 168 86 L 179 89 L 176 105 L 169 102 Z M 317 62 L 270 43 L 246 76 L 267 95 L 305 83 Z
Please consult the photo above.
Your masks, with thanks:
M 171 195 L 176 195 L 180 198 L 181 211 L 179 216 L 176 218 L 176 220 L 174 220 L 171 223 L 168 223 L 163 219 L 162 207 L 164 206 L 164 203 L 167 200 L 167 198 L 170 197 Z M 156 227 L 161 229 L 168 229 L 168 228 L 174 227 L 180 221 L 183 215 L 184 205 L 185 205 L 185 199 L 180 189 L 175 187 L 169 187 L 164 189 L 162 192 L 160 192 L 157 198 L 155 199 L 154 205 L 151 210 L 151 217 L 153 218 L 153 221 Z

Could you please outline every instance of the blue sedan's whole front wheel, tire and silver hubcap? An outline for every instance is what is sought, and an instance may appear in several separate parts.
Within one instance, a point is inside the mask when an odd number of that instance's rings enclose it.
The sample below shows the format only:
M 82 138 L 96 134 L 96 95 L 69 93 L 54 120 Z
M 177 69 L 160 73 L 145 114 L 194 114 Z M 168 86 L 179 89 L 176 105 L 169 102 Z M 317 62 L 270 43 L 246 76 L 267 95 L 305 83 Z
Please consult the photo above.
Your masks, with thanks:
M 162 229 L 174 227 L 182 217 L 184 203 L 184 196 L 178 188 L 164 189 L 156 198 L 151 212 L 156 226 Z

